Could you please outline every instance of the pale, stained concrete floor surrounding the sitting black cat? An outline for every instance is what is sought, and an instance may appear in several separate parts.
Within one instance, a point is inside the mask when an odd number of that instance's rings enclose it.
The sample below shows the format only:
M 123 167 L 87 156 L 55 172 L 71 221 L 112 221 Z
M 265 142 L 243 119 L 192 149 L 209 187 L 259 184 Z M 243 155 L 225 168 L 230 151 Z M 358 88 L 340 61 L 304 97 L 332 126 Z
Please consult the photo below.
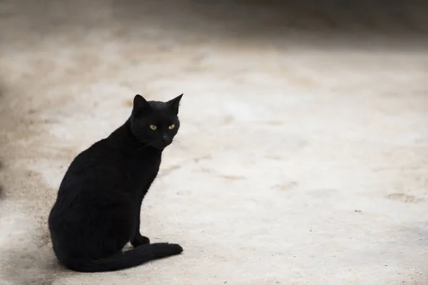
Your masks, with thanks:
M 1 285 L 428 284 L 427 9 L 230 2 L 0 2 Z M 58 184 L 136 93 L 185 93 L 141 226 L 185 252 L 65 271 Z

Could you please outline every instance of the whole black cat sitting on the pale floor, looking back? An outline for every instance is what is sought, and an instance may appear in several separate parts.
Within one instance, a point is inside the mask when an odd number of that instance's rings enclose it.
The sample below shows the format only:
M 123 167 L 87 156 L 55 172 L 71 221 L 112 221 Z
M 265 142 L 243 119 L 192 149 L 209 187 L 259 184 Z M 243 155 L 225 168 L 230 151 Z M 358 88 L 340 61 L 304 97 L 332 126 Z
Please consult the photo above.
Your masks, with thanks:
M 49 214 L 54 252 L 63 266 L 114 271 L 183 252 L 179 244 L 150 244 L 140 234 L 141 202 L 163 149 L 180 128 L 182 96 L 159 102 L 136 95 L 126 123 L 71 162 Z M 134 248 L 122 252 L 128 242 Z

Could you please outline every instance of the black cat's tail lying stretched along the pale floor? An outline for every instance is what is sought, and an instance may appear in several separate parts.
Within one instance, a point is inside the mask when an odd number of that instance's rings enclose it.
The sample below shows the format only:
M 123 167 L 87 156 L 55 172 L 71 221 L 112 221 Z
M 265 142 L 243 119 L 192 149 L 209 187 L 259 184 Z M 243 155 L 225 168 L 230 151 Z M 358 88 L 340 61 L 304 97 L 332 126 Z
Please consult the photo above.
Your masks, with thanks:
M 68 269 L 81 272 L 116 271 L 137 266 L 153 259 L 180 254 L 181 252 L 183 252 L 183 248 L 179 244 L 144 244 L 105 259 L 90 261 L 75 259 L 64 265 Z

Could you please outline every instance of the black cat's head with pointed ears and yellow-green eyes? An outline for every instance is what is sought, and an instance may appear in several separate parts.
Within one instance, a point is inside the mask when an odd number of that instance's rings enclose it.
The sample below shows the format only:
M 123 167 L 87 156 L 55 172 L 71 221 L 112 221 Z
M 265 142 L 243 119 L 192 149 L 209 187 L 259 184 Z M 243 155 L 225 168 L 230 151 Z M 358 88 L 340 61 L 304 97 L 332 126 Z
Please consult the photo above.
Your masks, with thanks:
M 147 101 L 141 95 L 134 97 L 131 131 L 141 145 L 162 150 L 173 142 L 180 128 L 178 106 L 182 96 L 168 102 Z

